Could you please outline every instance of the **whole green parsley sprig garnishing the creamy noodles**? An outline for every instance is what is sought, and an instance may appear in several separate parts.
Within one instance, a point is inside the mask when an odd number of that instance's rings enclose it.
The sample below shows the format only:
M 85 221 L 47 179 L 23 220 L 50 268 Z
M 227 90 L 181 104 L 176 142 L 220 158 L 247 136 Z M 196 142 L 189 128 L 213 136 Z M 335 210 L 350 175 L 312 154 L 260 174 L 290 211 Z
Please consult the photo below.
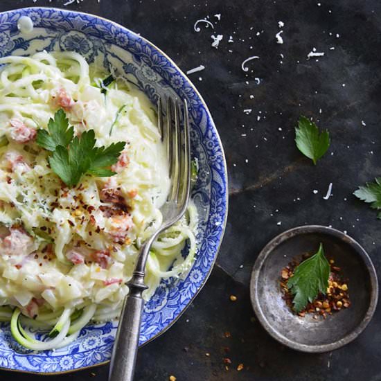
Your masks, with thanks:
M 48 158 L 52 170 L 67 186 L 76 186 L 82 175 L 98 177 L 115 175 L 109 169 L 125 148 L 125 142 L 112 143 L 107 148 L 96 147 L 94 130 L 74 137 L 73 127 L 69 127 L 64 110 L 55 113 L 48 122 L 48 131 L 37 131 L 37 144 L 53 152 Z

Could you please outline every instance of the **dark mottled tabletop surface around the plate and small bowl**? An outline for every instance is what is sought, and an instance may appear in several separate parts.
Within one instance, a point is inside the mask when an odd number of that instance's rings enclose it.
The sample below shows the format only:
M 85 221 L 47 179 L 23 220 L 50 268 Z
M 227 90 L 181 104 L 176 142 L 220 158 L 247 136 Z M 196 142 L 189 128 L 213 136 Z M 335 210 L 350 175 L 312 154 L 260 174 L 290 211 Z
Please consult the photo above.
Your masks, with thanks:
M 64 2 L 37 0 L 35 5 L 62 7 Z M 1 0 L 0 10 L 33 4 Z M 136 380 L 168 380 L 169 375 L 178 381 L 381 380 L 380 308 L 355 342 L 333 353 L 308 355 L 269 337 L 253 321 L 249 301 L 251 267 L 260 249 L 276 234 L 301 224 L 348 231 L 381 275 L 381 221 L 352 195 L 381 169 L 381 2 L 84 0 L 67 8 L 102 15 L 141 33 L 184 71 L 204 64 L 206 69 L 190 78 L 211 109 L 227 156 L 230 211 L 217 265 L 177 324 L 141 348 Z M 218 13 L 219 22 L 213 17 Z M 218 49 L 211 47 L 211 28 L 193 30 L 195 21 L 208 15 L 216 23 L 215 33 L 224 36 Z M 282 45 L 275 39 L 280 20 L 285 23 Z M 228 43 L 230 35 L 233 43 Z M 313 47 L 326 53 L 318 62 L 306 60 Z M 251 55 L 260 59 L 249 63 L 246 76 L 240 66 Z M 245 115 L 243 109 L 252 112 Z M 316 167 L 294 145 L 300 114 L 330 130 L 329 153 Z M 322 197 L 330 182 L 333 196 L 326 201 Z M 238 296 L 236 303 L 229 301 L 230 294 Z M 224 337 L 226 331 L 230 338 Z M 222 357 L 231 358 L 229 371 Z M 245 369 L 238 372 L 240 363 Z M 107 371 L 102 366 L 55 380 L 106 381 Z M 0 371 L 0 379 L 35 381 L 42 376 Z

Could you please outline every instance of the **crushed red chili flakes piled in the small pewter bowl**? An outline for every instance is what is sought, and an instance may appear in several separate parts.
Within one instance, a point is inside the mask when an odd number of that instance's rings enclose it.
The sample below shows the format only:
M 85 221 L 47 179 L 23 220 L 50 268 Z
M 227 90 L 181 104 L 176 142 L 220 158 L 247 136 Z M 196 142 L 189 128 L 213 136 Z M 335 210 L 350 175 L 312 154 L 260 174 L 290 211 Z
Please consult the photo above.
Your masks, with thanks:
M 294 296 L 290 293 L 287 287 L 287 280 L 294 275 L 295 268 L 306 258 L 308 255 L 303 256 L 301 261 L 293 260 L 281 271 L 281 291 L 283 292 L 283 299 L 285 303 L 292 309 L 292 300 Z M 330 264 L 330 276 L 328 278 L 328 288 L 326 294 L 319 292 L 318 296 L 312 303 L 308 303 L 305 308 L 298 313 L 300 317 L 305 317 L 305 314 L 314 314 L 314 319 L 317 316 L 322 316 L 326 319 L 328 314 L 338 312 L 343 308 L 351 306 L 348 294 L 348 281 L 344 280 L 339 274 L 341 268 L 334 266 L 335 260 L 328 260 Z

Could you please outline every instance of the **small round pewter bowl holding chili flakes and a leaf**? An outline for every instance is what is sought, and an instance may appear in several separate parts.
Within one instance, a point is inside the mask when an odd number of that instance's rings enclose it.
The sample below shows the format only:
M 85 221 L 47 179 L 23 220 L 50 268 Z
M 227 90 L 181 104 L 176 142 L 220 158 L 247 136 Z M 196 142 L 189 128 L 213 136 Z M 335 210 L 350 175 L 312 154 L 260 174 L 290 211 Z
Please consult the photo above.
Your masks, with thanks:
M 316 252 L 319 242 L 326 255 L 348 278 L 351 306 L 314 319 L 299 317 L 282 299 L 281 270 L 293 258 Z M 371 321 L 378 300 L 378 281 L 373 263 L 353 238 L 328 227 L 310 225 L 281 233 L 260 252 L 251 273 L 251 303 L 267 332 L 282 344 L 303 352 L 333 351 L 355 339 Z

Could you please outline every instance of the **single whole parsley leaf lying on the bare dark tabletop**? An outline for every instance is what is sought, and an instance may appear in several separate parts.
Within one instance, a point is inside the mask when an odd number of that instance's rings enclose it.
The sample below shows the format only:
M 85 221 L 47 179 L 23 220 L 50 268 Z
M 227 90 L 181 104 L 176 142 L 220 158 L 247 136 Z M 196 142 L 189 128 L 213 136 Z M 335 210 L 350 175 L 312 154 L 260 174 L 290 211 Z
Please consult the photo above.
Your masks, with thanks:
M 319 134 L 319 128 L 305 116 L 299 118 L 298 127 L 295 127 L 295 142 L 302 154 L 311 159 L 316 165 L 330 146 L 328 130 Z

